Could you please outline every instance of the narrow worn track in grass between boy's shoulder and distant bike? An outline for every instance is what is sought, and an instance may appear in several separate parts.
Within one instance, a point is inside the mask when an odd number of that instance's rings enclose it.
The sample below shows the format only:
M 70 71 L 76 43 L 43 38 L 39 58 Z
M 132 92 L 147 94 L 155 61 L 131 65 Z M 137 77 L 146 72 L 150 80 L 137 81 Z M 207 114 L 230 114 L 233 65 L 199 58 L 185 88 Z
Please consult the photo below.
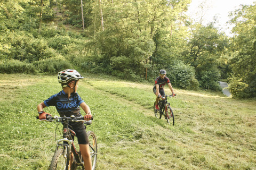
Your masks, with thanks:
M 125 98 L 123 97 L 119 97 L 117 95 L 114 95 L 114 94 L 111 94 L 110 92 L 108 91 L 103 91 L 103 90 L 100 90 L 100 89 L 97 89 L 95 88 L 93 85 L 90 85 L 90 84 L 83 84 L 83 86 L 86 86 L 87 88 L 89 89 L 92 89 L 93 90 L 97 90 L 97 91 L 100 91 L 101 93 L 103 94 L 107 94 L 111 99 L 113 100 L 118 100 L 119 103 L 122 103 L 122 104 L 125 104 L 126 106 L 130 106 L 132 107 L 134 110 L 140 110 L 144 115 L 147 115 L 147 116 L 155 116 L 154 115 L 154 111 L 153 111 L 153 108 L 152 109 L 148 109 L 148 108 L 145 108 L 139 104 L 136 104 L 132 101 L 129 101 L 129 100 L 126 100 Z

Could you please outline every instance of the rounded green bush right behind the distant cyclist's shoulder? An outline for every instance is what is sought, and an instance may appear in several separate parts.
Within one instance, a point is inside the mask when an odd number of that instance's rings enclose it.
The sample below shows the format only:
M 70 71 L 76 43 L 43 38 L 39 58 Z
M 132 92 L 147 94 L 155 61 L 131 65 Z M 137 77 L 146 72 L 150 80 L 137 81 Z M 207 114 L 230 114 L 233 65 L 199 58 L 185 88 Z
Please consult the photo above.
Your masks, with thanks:
M 166 69 L 167 77 L 175 87 L 183 89 L 196 90 L 199 86 L 195 78 L 195 70 L 193 67 L 186 65 L 182 62 L 174 62 L 170 68 Z

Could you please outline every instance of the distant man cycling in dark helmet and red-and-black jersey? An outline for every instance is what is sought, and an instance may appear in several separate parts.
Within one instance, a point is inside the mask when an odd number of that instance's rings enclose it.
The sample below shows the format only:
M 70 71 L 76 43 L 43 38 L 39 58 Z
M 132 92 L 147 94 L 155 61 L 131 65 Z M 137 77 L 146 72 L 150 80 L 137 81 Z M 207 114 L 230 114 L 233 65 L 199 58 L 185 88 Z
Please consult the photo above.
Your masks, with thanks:
M 156 109 L 159 110 L 159 106 L 158 106 L 158 100 L 159 98 L 163 98 L 162 96 L 165 95 L 164 92 L 164 85 L 167 83 L 170 90 L 172 91 L 172 96 L 175 96 L 171 82 L 169 80 L 169 78 L 167 78 L 166 76 L 166 71 L 165 70 L 160 70 L 159 71 L 159 77 L 157 77 L 155 79 L 155 85 L 153 87 L 153 91 L 154 94 L 156 95 Z

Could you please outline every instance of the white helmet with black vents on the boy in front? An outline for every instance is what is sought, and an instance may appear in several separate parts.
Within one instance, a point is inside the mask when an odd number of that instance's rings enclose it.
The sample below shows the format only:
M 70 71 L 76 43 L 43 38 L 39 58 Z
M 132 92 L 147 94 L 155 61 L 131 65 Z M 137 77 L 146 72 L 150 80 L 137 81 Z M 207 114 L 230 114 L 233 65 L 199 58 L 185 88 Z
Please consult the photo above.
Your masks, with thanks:
M 74 69 L 67 69 L 58 73 L 58 81 L 61 84 L 66 84 L 70 80 L 83 79 L 82 75 Z

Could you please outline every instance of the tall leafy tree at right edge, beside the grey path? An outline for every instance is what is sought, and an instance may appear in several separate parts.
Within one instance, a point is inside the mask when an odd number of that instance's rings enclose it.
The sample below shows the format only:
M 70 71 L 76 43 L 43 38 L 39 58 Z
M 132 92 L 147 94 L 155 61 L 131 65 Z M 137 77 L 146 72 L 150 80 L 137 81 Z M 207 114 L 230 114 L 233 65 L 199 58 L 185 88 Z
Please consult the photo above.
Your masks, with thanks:
M 256 4 L 242 5 L 234 11 L 231 23 L 235 24 L 232 39 L 230 67 L 231 94 L 238 98 L 256 97 Z

